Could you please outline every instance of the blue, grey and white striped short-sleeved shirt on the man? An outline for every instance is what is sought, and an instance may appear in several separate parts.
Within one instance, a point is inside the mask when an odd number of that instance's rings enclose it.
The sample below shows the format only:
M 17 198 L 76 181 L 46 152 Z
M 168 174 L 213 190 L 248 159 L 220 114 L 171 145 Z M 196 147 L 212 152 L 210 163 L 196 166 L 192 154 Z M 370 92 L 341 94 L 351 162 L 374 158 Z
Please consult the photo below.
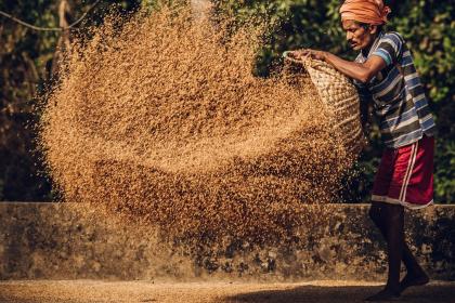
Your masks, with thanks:
M 384 58 L 387 66 L 369 82 L 354 80 L 361 102 L 373 98 L 374 113 L 386 146 L 398 148 L 435 133 L 428 100 L 403 38 L 398 32 L 380 32 L 367 56 L 361 52 L 355 62 L 372 56 Z

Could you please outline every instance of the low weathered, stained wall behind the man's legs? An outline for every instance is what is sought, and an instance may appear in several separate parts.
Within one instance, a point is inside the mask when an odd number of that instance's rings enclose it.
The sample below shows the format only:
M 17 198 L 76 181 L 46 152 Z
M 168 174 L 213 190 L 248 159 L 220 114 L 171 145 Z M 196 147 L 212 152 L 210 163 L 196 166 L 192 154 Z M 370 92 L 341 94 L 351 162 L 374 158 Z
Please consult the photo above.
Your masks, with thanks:
M 368 207 L 327 207 L 329 222 L 303 242 L 237 242 L 190 258 L 147 230 L 88 219 L 67 205 L 0 202 L 0 279 L 384 279 L 386 245 Z M 455 280 L 455 207 L 407 212 L 406 230 L 430 276 Z

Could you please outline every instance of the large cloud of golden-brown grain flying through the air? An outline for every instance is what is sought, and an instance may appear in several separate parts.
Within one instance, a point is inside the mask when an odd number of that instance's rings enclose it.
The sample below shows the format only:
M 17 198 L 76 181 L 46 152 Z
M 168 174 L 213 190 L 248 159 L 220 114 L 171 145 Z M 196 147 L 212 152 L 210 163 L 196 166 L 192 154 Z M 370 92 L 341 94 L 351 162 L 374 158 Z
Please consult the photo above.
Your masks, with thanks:
M 255 77 L 260 30 L 185 8 L 114 24 L 77 43 L 47 100 L 65 201 L 171 237 L 264 240 L 317 221 L 349 161 L 309 77 Z

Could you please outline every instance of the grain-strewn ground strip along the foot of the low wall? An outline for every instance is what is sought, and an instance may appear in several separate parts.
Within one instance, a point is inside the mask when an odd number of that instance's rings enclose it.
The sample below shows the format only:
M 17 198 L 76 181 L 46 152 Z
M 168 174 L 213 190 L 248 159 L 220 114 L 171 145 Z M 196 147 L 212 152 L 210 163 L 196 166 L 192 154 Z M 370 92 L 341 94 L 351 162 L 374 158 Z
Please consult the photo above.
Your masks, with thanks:
M 375 282 L 326 280 L 297 284 L 9 280 L 0 281 L 0 302 L 336 303 L 363 302 L 380 287 Z M 455 302 L 455 282 L 432 281 L 408 289 L 398 302 Z

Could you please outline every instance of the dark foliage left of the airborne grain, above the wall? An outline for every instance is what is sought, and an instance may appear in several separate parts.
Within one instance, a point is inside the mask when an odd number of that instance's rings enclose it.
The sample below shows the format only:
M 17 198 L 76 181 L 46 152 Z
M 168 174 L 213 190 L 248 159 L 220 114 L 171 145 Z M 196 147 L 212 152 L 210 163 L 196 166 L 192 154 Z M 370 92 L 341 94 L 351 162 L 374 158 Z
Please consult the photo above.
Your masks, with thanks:
M 0 1 L 0 10 L 39 27 L 57 27 L 56 0 Z M 76 21 L 93 1 L 74 0 L 69 22 Z M 106 2 L 106 1 L 102 1 Z M 138 1 L 117 1 L 125 10 Z M 104 8 L 103 8 L 104 5 Z M 86 25 L 100 23 L 112 3 L 89 14 Z M 83 25 L 82 25 L 83 26 Z M 51 185 L 43 175 L 32 107 L 37 94 L 50 80 L 58 31 L 36 31 L 0 17 L 0 199 L 48 200 Z

